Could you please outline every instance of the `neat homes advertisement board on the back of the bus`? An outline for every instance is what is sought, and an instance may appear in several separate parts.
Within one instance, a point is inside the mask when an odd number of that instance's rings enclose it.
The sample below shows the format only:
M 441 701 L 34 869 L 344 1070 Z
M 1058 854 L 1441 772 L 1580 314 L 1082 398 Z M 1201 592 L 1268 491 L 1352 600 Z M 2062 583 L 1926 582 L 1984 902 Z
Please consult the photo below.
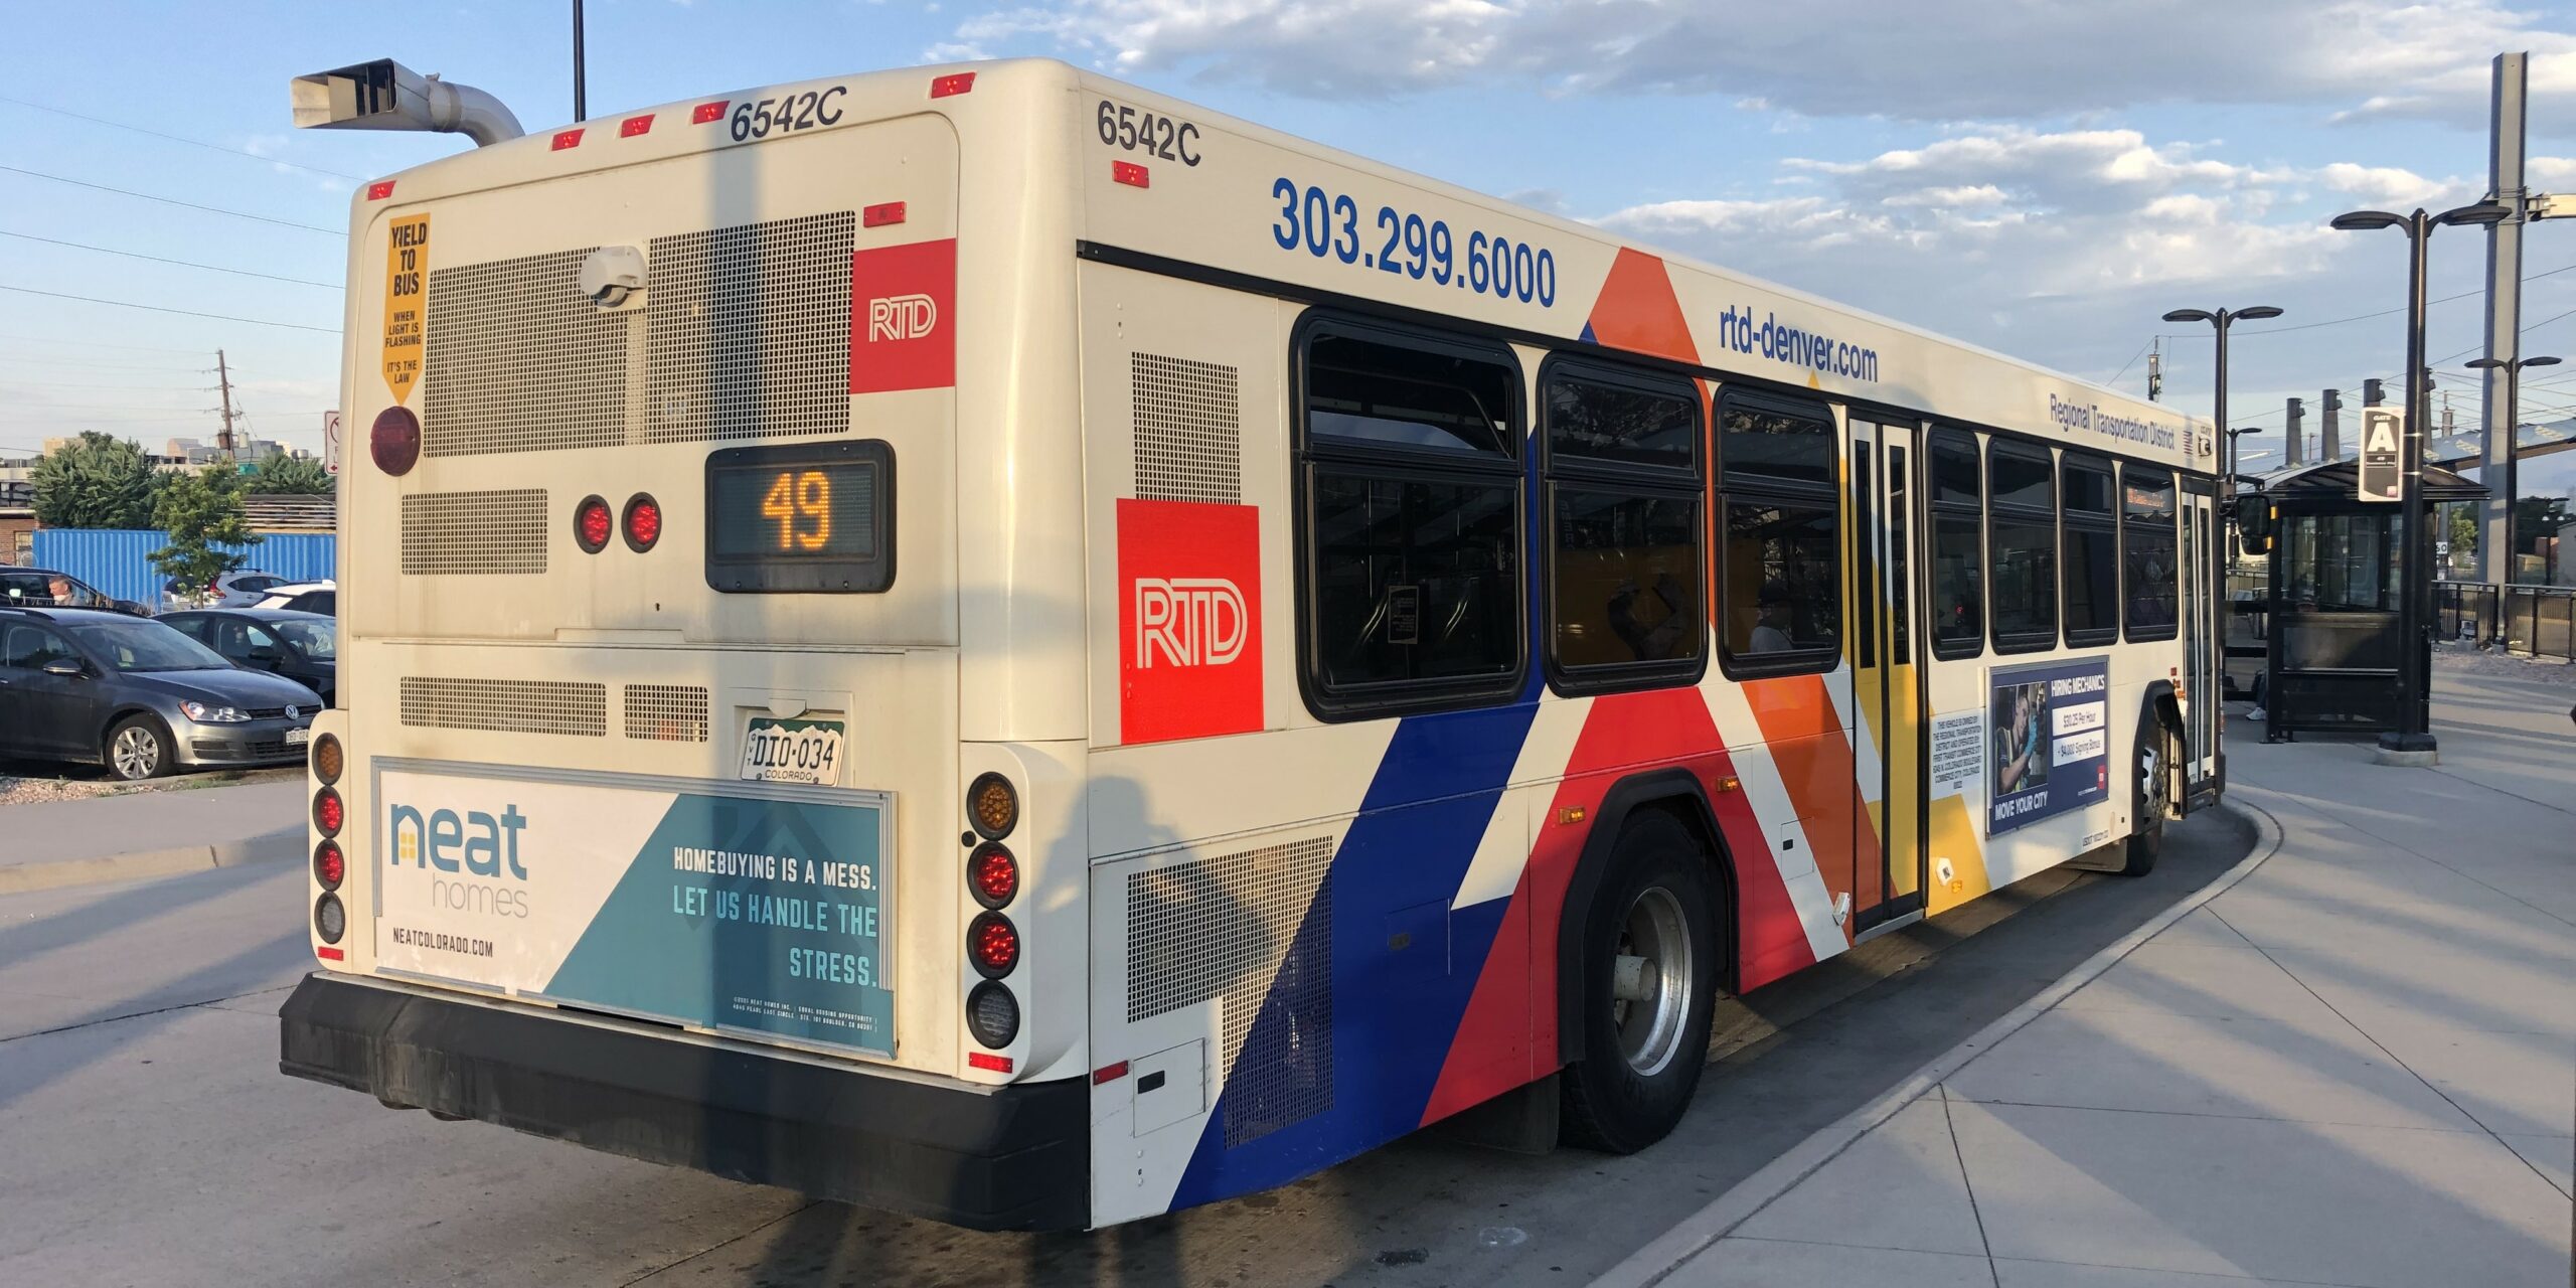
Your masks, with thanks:
M 881 793 L 376 775 L 376 961 L 894 1054 Z

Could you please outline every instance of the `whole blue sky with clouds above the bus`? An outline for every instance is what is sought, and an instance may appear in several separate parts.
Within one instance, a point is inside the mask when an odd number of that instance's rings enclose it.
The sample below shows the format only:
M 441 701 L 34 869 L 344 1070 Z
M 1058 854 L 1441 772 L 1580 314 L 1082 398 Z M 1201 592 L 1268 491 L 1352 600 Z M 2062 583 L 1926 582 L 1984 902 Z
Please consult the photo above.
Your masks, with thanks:
M 216 348 L 250 433 L 319 443 L 350 183 L 464 142 L 296 134 L 296 72 L 397 57 L 531 129 L 572 111 L 559 0 L 26 5 L 10 28 L 0 286 L 21 291 L 0 291 L 0 453 L 75 428 L 211 438 Z M 2313 327 L 2398 307 L 2403 240 L 2324 222 L 2473 201 L 2501 49 L 2535 54 L 2535 188 L 2576 191 L 2566 3 L 592 0 L 590 106 L 1054 54 L 2128 392 L 2133 355 L 2169 332 L 2166 402 L 2195 412 L 2208 335 L 2159 314 L 2277 304 L 2311 327 L 2239 332 L 2233 410 L 2280 425 L 2287 394 L 2313 407 L 2334 384 L 2357 404 L 2362 376 L 2403 366 L 2398 317 Z M 2434 240 L 2437 296 L 2478 286 L 2481 242 Z M 2527 270 L 2568 265 L 2576 219 L 2535 224 Z M 2571 309 L 2576 270 L 2532 281 L 2524 353 L 2576 358 Z M 2434 307 L 2437 361 L 2478 343 L 2476 299 Z M 2576 376 L 2548 376 L 2527 417 L 2576 410 Z M 2476 386 L 2442 384 L 2473 422 Z

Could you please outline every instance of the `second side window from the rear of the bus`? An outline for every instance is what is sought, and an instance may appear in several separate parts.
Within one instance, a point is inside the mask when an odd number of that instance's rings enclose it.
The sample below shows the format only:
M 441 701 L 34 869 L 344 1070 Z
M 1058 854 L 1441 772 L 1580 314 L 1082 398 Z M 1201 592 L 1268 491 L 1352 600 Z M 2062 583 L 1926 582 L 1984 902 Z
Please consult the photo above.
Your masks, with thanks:
M 1708 657 L 1698 389 L 1587 361 L 1548 361 L 1538 384 L 1556 688 L 1698 680 Z

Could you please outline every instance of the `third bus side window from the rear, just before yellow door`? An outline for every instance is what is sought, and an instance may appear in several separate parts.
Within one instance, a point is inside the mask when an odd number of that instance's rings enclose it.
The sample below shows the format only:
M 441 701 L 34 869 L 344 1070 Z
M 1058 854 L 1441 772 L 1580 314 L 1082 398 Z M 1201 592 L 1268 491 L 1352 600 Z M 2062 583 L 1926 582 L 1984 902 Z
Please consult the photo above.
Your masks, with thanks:
M 1842 492 L 1821 404 L 1718 404 L 1718 644 L 1728 675 L 1803 675 L 1842 657 Z

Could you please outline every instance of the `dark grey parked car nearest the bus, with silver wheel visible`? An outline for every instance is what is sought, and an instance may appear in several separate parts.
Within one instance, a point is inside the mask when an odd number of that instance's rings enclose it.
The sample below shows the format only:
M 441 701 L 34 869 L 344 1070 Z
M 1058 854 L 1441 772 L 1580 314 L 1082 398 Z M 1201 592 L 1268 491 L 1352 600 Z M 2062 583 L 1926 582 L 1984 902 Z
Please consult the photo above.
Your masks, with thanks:
M 322 696 L 157 623 L 0 608 L 0 755 L 100 762 L 116 778 L 304 760 Z

